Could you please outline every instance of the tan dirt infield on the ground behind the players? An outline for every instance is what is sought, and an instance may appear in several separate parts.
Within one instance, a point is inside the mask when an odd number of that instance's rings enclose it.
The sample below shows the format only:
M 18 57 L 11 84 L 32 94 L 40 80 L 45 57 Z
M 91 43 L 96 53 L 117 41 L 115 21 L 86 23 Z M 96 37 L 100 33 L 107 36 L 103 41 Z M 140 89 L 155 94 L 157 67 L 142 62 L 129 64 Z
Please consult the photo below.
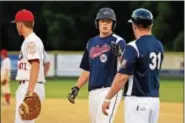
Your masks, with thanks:
M 14 107 L 15 103 L 10 107 L 2 106 L 1 123 L 14 123 Z M 46 99 L 36 123 L 89 123 L 88 102 L 77 100 L 72 105 L 64 99 Z M 124 123 L 123 103 L 116 114 L 115 123 Z M 183 103 L 162 102 L 159 123 L 183 123 Z

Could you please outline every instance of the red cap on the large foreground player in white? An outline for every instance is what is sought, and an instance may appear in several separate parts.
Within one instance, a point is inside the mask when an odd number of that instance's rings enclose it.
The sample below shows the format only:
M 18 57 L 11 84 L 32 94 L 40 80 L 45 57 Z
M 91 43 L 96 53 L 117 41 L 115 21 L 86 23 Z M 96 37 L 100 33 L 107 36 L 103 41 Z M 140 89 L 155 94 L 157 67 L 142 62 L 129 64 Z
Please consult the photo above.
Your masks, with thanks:
M 32 22 L 34 21 L 34 15 L 29 10 L 26 10 L 26 9 L 19 10 L 15 15 L 15 20 L 11 21 L 11 23 L 15 23 L 19 21 Z

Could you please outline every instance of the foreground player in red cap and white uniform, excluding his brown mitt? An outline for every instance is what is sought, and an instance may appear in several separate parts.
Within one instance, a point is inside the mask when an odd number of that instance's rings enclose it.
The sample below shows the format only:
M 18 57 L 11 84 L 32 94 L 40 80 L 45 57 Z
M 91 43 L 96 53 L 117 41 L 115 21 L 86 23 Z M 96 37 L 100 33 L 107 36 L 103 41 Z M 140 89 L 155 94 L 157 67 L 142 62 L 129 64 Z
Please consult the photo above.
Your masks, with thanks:
M 33 32 L 34 15 L 31 11 L 20 10 L 16 13 L 15 21 L 18 34 L 24 37 L 19 53 L 16 80 L 20 86 L 16 91 L 15 123 L 34 123 L 33 120 L 23 120 L 19 106 L 25 100 L 27 93 L 36 92 L 41 100 L 45 98 L 44 46 L 41 39 Z

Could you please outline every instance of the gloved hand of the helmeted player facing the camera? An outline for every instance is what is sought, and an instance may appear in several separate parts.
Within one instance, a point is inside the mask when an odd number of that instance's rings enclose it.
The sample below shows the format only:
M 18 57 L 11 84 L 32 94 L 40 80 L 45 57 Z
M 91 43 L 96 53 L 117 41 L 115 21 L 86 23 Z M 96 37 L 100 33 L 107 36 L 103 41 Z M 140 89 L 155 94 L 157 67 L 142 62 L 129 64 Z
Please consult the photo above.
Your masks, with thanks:
M 68 94 L 67 97 L 70 103 L 75 104 L 75 98 L 77 97 L 79 90 L 80 89 L 77 86 L 71 88 L 71 92 Z

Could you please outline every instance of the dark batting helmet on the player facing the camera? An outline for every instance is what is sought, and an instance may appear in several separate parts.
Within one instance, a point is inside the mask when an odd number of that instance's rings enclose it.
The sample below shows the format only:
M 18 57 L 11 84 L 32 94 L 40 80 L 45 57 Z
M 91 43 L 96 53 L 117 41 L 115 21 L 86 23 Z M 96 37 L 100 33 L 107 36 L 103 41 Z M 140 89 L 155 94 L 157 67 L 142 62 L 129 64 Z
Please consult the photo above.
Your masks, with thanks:
M 113 9 L 111 9 L 111 8 L 101 8 L 98 11 L 98 13 L 96 15 L 96 19 L 95 19 L 96 28 L 98 28 L 97 21 L 99 19 L 111 19 L 111 20 L 113 20 L 113 29 L 115 29 L 115 27 L 116 27 L 116 14 L 115 14 Z

